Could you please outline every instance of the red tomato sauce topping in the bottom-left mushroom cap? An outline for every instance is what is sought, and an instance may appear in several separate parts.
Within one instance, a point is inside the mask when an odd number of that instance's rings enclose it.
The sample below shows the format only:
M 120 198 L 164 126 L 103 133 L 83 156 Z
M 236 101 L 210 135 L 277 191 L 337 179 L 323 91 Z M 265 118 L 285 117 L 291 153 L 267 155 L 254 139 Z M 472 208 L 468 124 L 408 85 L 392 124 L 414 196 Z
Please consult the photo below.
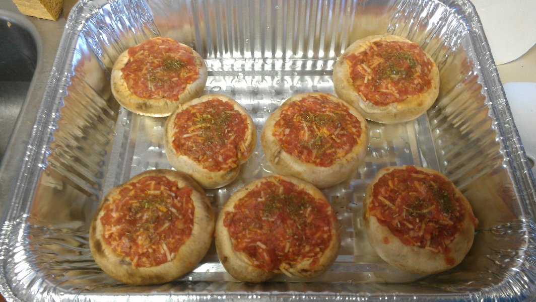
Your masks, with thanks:
M 146 176 L 126 184 L 103 207 L 103 240 L 133 267 L 173 260 L 192 233 L 191 194 L 190 187 L 178 187 L 165 176 Z

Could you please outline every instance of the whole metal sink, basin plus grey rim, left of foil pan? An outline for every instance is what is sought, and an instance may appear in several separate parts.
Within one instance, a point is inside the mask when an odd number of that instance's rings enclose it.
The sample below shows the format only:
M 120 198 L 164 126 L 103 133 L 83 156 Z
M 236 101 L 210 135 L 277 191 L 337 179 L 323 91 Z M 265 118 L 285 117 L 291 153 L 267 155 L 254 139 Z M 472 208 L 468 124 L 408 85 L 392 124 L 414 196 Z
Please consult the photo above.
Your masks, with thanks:
M 28 17 L 13 1 L 0 0 L 0 213 L 14 194 L 24 193 L 15 190 L 16 184 L 33 177 L 21 167 L 28 152 L 37 152 L 28 144 L 53 76 L 65 20 Z

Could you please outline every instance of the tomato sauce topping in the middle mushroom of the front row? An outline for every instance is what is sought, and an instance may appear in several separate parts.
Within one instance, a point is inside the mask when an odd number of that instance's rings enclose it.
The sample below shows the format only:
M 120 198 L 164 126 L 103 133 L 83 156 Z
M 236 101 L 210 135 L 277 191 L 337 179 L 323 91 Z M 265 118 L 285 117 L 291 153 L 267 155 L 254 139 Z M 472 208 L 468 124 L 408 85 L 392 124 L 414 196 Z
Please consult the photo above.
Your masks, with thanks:
M 225 212 L 233 248 L 252 266 L 285 270 L 293 263 L 315 266 L 329 246 L 337 217 L 326 200 L 284 179 L 264 180 Z

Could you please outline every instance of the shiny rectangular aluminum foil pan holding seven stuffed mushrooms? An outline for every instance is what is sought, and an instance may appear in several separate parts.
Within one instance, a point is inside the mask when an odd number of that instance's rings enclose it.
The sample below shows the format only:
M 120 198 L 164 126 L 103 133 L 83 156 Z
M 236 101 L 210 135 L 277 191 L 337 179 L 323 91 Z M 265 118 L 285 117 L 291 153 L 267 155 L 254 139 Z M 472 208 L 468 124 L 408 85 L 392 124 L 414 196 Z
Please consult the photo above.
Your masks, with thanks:
M 204 93 L 239 101 L 260 131 L 287 97 L 333 93 L 336 58 L 352 41 L 382 33 L 425 49 L 440 69 L 441 91 L 416 120 L 369 123 L 365 163 L 324 190 L 342 240 L 325 274 L 241 283 L 213 247 L 190 274 L 163 285 L 118 284 L 95 265 L 88 224 L 102 195 L 144 170 L 171 168 L 162 142 L 165 119 L 132 114 L 111 96 L 111 66 L 123 50 L 158 35 L 189 44 L 209 68 Z M 0 289 L 9 300 L 518 300 L 536 292 L 534 178 L 467 0 L 80 1 L 69 15 L 25 159 L 0 236 Z M 472 203 L 480 225 L 456 268 L 407 274 L 383 262 L 364 239 L 365 188 L 379 169 L 401 164 L 442 171 Z M 257 144 L 239 179 L 207 191 L 215 211 L 269 173 Z

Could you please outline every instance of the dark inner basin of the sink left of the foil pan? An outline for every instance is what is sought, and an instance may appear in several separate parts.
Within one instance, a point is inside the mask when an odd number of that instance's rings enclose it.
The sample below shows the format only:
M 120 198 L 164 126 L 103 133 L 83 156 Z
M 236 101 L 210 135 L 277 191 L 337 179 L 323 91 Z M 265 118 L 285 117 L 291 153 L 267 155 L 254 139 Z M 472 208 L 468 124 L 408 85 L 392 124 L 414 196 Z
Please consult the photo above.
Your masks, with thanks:
M 26 19 L 0 10 L 0 162 L 38 61 L 35 28 Z

